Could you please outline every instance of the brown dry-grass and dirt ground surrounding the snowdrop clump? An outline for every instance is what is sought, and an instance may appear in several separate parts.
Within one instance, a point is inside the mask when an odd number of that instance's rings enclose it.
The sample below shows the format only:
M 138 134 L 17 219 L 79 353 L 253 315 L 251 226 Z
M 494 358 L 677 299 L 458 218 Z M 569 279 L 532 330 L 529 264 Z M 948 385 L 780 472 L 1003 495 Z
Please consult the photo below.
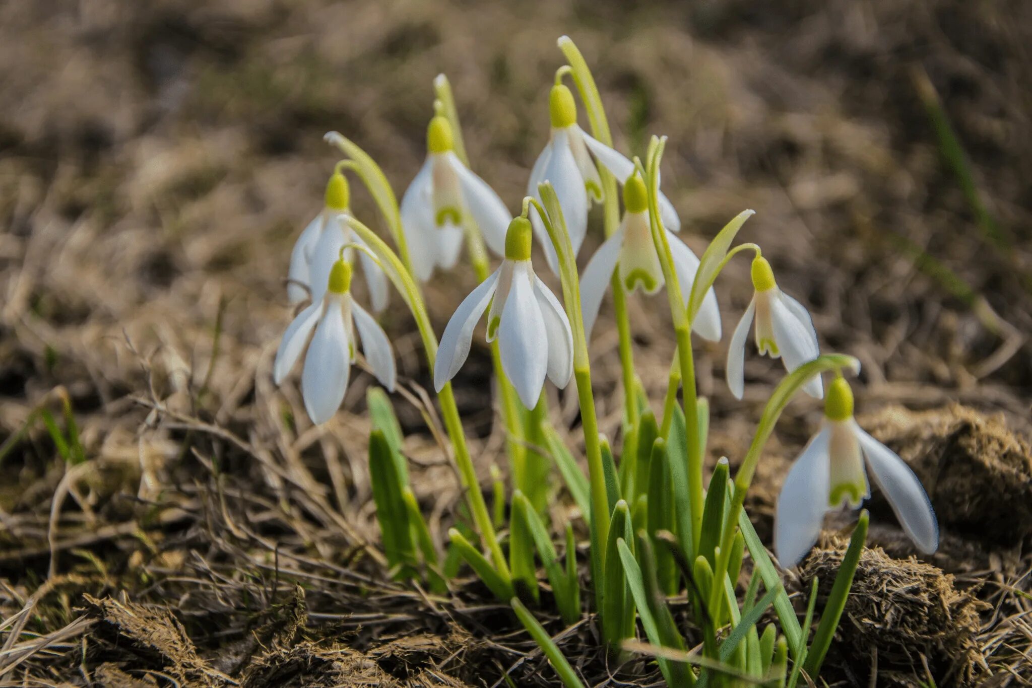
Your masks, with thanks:
M 861 359 L 862 423 L 936 506 L 942 547 L 916 559 L 873 495 L 825 679 L 1032 683 L 1032 4 L 35 0 L 0 3 L 0 684 L 554 685 L 479 585 L 436 597 L 385 575 L 372 378 L 315 428 L 270 368 L 289 251 L 336 160 L 322 134 L 365 148 L 400 195 L 445 72 L 474 169 L 516 208 L 561 34 L 618 148 L 670 136 L 664 189 L 689 244 L 757 211 L 741 238 L 812 307 L 823 348 Z M 439 332 L 474 284 L 456 270 L 428 286 Z M 727 333 L 750 295 L 744 264 L 717 289 Z M 669 312 L 633 305 L 658 404 Z M 618 437 L 603 308 L 592 372 Z M 402 386 L 431 388 L 405 309 L 384 325 Z M 734 464 L 781 369 L 747 359 L 735 401 L 725 346 L 700 345 L 699 382 L 710 460 Z M 456 385 L 485 483 L 506 469 L 489 371 L 478 343 Z M 461 495 L 413 398 L 394 401 L 443 542 Z M 74 466 L 36 411 L 64 427 L 62 399 L 88 459 Z M 575 406 L 552 404 L 573 445 Z M 794 402 L 761 464 L 748 506 L 766 542 L 819 411 Z M 849 523 L 829 524 L 789 589 L 830 585 Z M 558 641 L 592 685 L 658 680 L 641 660 L 608 666 L 589 617 Z

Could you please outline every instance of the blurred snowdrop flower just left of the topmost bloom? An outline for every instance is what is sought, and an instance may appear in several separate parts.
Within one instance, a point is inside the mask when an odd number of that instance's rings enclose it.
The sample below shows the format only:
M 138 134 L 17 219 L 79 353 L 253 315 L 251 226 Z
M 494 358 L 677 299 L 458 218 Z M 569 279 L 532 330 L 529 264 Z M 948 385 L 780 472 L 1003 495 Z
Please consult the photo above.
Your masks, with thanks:
M 463 229 L 474 229 L 471 220 L 487 247 L 503 255 L 512 217 L 498 195 L 455 155 L 451 125 L 440 114 L 430 120 L 426 148 L 426 162 L 401 197 L 405 238 L 421 282 L 436 267 L 454 267 Z

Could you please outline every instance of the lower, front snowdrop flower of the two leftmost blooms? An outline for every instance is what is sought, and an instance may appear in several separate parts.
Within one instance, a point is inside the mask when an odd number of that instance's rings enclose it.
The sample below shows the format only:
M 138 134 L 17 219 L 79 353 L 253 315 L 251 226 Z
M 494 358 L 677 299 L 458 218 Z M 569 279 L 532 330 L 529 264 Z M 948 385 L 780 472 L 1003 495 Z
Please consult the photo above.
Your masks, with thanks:
M 351 265 L 337 260 L 330 268 L 319 300 L 301 310 L 283 333 L 272 364 L 276 384 L 283 382 L 301 355 L 312 330 L 315 335 L 304 357 L 301 396 L 312 422 L 319 425 L 341 407 L 355 362 L 355 330 L 373 374 L 394 391 L 394 354 L 390 341 L 373 316 L 351 298 Z

